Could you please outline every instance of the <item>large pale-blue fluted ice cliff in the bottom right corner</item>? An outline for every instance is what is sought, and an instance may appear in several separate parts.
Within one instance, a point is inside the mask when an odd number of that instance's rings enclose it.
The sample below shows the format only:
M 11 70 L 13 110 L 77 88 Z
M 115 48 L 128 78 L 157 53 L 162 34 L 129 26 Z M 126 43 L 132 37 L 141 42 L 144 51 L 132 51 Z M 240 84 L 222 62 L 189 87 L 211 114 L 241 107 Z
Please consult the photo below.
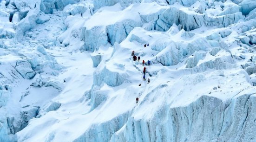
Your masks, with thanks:
M 129 117 L 111 142 L 253 142 L 255 99 L 255 94 L 241 92 L 225 102 L 202 96 L 188 106 L 163 106 L 150 120 Z

